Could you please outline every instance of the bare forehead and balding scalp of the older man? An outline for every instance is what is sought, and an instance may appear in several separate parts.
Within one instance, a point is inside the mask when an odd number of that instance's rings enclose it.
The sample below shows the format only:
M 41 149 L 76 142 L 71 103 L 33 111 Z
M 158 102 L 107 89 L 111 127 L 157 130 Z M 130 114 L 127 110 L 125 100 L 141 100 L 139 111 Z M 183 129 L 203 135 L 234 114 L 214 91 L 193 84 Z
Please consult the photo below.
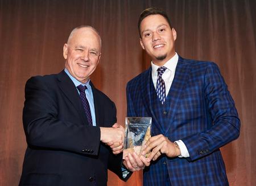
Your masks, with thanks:
M 100 36 L 91 28 L 79 28 L 73 33 L 69 42 L 74 47 L 84 46 L 100 49 Z

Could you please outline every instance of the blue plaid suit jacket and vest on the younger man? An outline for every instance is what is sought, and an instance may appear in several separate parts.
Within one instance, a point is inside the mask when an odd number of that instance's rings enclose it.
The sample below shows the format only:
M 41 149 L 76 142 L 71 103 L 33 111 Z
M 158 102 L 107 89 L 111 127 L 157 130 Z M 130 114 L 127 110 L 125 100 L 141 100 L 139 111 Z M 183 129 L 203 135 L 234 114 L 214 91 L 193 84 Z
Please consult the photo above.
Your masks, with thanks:
M 171 185 L 228 185 L 219 148 L 238 138 L 240 119 L 217 65 L 179 56 L 165 108 L 156 108 L 152 86 L 151 68 L 128 82 L 127 116 L 152 117 L 152 135 L 183 140 L 190 156 L 151 162 L 143 185 L 165 185 L 166 177 Z

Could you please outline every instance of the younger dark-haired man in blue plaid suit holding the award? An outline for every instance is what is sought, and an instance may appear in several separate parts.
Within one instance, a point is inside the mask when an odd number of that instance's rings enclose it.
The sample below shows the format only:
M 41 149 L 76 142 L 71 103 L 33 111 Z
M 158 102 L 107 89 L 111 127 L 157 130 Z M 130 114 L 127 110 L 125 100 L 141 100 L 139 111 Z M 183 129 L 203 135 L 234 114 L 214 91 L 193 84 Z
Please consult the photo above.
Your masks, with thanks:
M 127 116 L 152 117 L 152 137 L 141 157 L 128 154 L 123 163 L 130 171 L 146 166 L 144 185 L 228 185 L 219 148 L 238 138 L 240 119 L 220 70 L 177 55 L 177 33 L 162 10 L 144 10 L 138 28 L 152 61 L 127 84 Z

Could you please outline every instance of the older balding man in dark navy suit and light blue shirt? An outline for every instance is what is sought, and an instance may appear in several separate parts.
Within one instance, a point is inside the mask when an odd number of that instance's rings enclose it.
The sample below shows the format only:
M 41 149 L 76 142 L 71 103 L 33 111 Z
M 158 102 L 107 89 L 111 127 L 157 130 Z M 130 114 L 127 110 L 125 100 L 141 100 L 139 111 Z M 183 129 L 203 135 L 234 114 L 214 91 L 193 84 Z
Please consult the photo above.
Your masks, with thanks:
M 27 81 L 28 146 L 19 185 L 106 185 L 108 168 L 126 180 L 119 154 L 124 129 L 115 123 L 114 103 L 90 81 L 101 56 L 100 35 L 90 26 L 75 28 L 63 56 L 59 74 Z

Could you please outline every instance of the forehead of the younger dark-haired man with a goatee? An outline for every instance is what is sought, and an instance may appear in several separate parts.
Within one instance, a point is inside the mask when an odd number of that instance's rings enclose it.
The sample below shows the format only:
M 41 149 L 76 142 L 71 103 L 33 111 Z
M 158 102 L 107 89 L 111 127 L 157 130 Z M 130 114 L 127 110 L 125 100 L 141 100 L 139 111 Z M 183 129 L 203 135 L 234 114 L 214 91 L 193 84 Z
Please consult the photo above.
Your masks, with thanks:
M 163 24 L 166 24 L 168 27 L 170 27 L 169 23 L 167 22 L 166 18 L 164 18 L 164 16 L 160 14 L 148 15 L 141 22 L 141 32 L 145 30 L 152 30 Z

